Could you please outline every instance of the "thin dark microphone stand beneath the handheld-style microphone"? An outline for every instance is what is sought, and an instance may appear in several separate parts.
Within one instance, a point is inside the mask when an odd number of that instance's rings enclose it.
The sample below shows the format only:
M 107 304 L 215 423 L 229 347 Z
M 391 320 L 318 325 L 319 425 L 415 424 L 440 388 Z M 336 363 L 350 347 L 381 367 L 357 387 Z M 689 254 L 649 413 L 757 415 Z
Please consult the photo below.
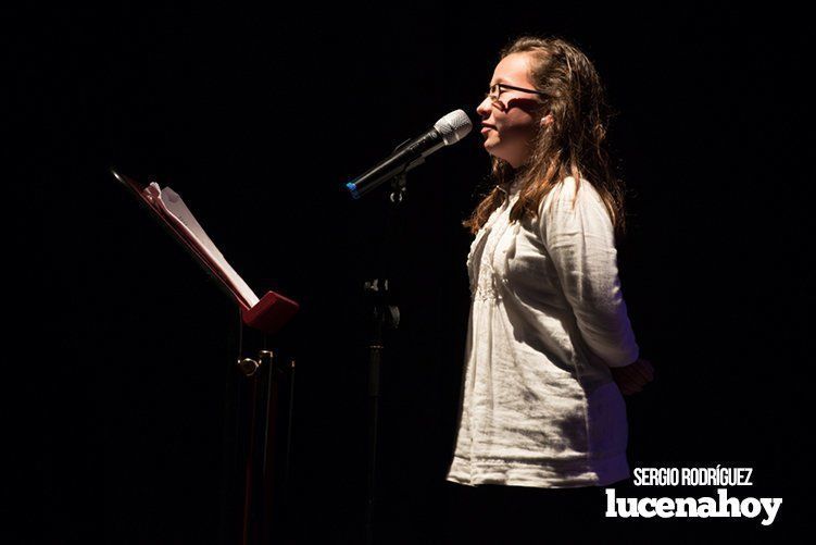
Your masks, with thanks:
M 407 141 L 397 147 L 394 152 L 399 151 Z M 403 201 L 406 193 L 406 172 L 420 164 L 424 160 L 417 160 L 393 176 L 391 179 L 391 193 L 389 195 L 389 208 L 391 211 Z M 393 219 L 392 213 L 388 214 L 388 228 L 386 230 L 385 246 L 387 255 L 387 265 L 390 273 L 391 265 L 391 239 L 393 238 Z M 366 491 L 366 509 L 365 509 L 365 543 L 374 544 L 374 521 L 376 508 L 376 484 L 377 484 L 377 431 L 379 425 L 379 382 L 380 364 L 382 362 L 382 352 L 385 350 L 385 332 L 387 329 L 397 330 L 400 323 L 400 309 L 393 300 L 393 293 L 389 286 L 389 278 L 374 278 L 364 283 L 363 297 L 366 300 L 366 312 L 371 318 L 369 322 L 369 342 L 368 342 L 368 468 L 367 468 L 367 491 Z

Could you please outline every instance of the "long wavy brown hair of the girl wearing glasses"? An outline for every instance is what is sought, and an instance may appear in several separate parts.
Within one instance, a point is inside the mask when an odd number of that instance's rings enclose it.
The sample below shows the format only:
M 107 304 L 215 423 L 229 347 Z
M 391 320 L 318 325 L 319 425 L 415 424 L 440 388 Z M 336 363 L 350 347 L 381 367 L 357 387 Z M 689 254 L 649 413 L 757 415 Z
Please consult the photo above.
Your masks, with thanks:
M 536 121 L 547 113 L 552 114 L 553 121 L 539 125 L 530 157 L 518 169 L 503 159 L 491 158 L 490 177 L 497 185 L 463 225 L 477 233 L 505 198 L 500 187 L 506 188 L 516 179 L 520 179 L 520 193 L 510 212 L 511 222 L 536 218 L 547 194 L 573 176 L 578 186 L 581 178 L 590 181 L 606 206 L 616 238 L 623 236 L 625 189 L 606 149 L 613 114 L 592 62 L 577 47 L 557 37 L 519 37 L 501 50 L 500 60 L 511 53 L 529 53 L 530 82 L 547 95 L 547 108 L 539 109 Z

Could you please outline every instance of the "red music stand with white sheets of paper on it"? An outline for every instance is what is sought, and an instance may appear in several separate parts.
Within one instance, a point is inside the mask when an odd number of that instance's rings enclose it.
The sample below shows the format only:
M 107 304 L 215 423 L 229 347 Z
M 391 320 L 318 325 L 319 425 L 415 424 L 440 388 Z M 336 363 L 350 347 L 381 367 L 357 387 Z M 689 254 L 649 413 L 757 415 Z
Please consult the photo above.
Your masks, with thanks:
M 177 198 L 176 202 L 180 202 L 175 193 L 165 191 L 158 184 L 143 186 L 128 176 L 111 172 L 238 304 L 243 324 L 271 335 L 298 312 L 296 301 L 275 292 L 267 292 L 259 299 L 224 260 L 194 218 L 191 214 L 179 216 L 167 207 L 163 197 Z M 189 212 L 183 202 L 181 206 Z M 228 425 L 224 438 L 227 483 L 226 490 L 222 491 L 224 543 L 271 543 L 275 541 L 274 531 L 284 518 L 278 488 L 284 488 L 285 493 L 288 481 L 294 360 L 278 360 L 281 358 L 263 349 L 256 360 L 239 357 L 238 364 L 230 367 L 226 400 Z M 287 435 L 285 443 L 276 441 L 280 433 Z M 278 460 L 284 460 L 284 465 Z M 278 486 L 276 483 L 281 481 L 283 486 Z

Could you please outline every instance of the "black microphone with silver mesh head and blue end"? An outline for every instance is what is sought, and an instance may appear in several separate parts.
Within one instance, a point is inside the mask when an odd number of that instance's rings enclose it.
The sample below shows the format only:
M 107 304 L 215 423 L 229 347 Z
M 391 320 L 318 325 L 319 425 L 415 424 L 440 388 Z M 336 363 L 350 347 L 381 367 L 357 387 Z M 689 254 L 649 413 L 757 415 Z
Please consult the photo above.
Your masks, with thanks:
M 346 187 L 353 198 L 359 199 L 393 176 L 420 165 L 426 157 L 438 149 L 460 141 L 472 128 L 473 123 L 467 114 L 463 110 L 454 110 L 437 121 L 430 131 L 413 140 L 405 140 L 389 158 L 346 184 Z

